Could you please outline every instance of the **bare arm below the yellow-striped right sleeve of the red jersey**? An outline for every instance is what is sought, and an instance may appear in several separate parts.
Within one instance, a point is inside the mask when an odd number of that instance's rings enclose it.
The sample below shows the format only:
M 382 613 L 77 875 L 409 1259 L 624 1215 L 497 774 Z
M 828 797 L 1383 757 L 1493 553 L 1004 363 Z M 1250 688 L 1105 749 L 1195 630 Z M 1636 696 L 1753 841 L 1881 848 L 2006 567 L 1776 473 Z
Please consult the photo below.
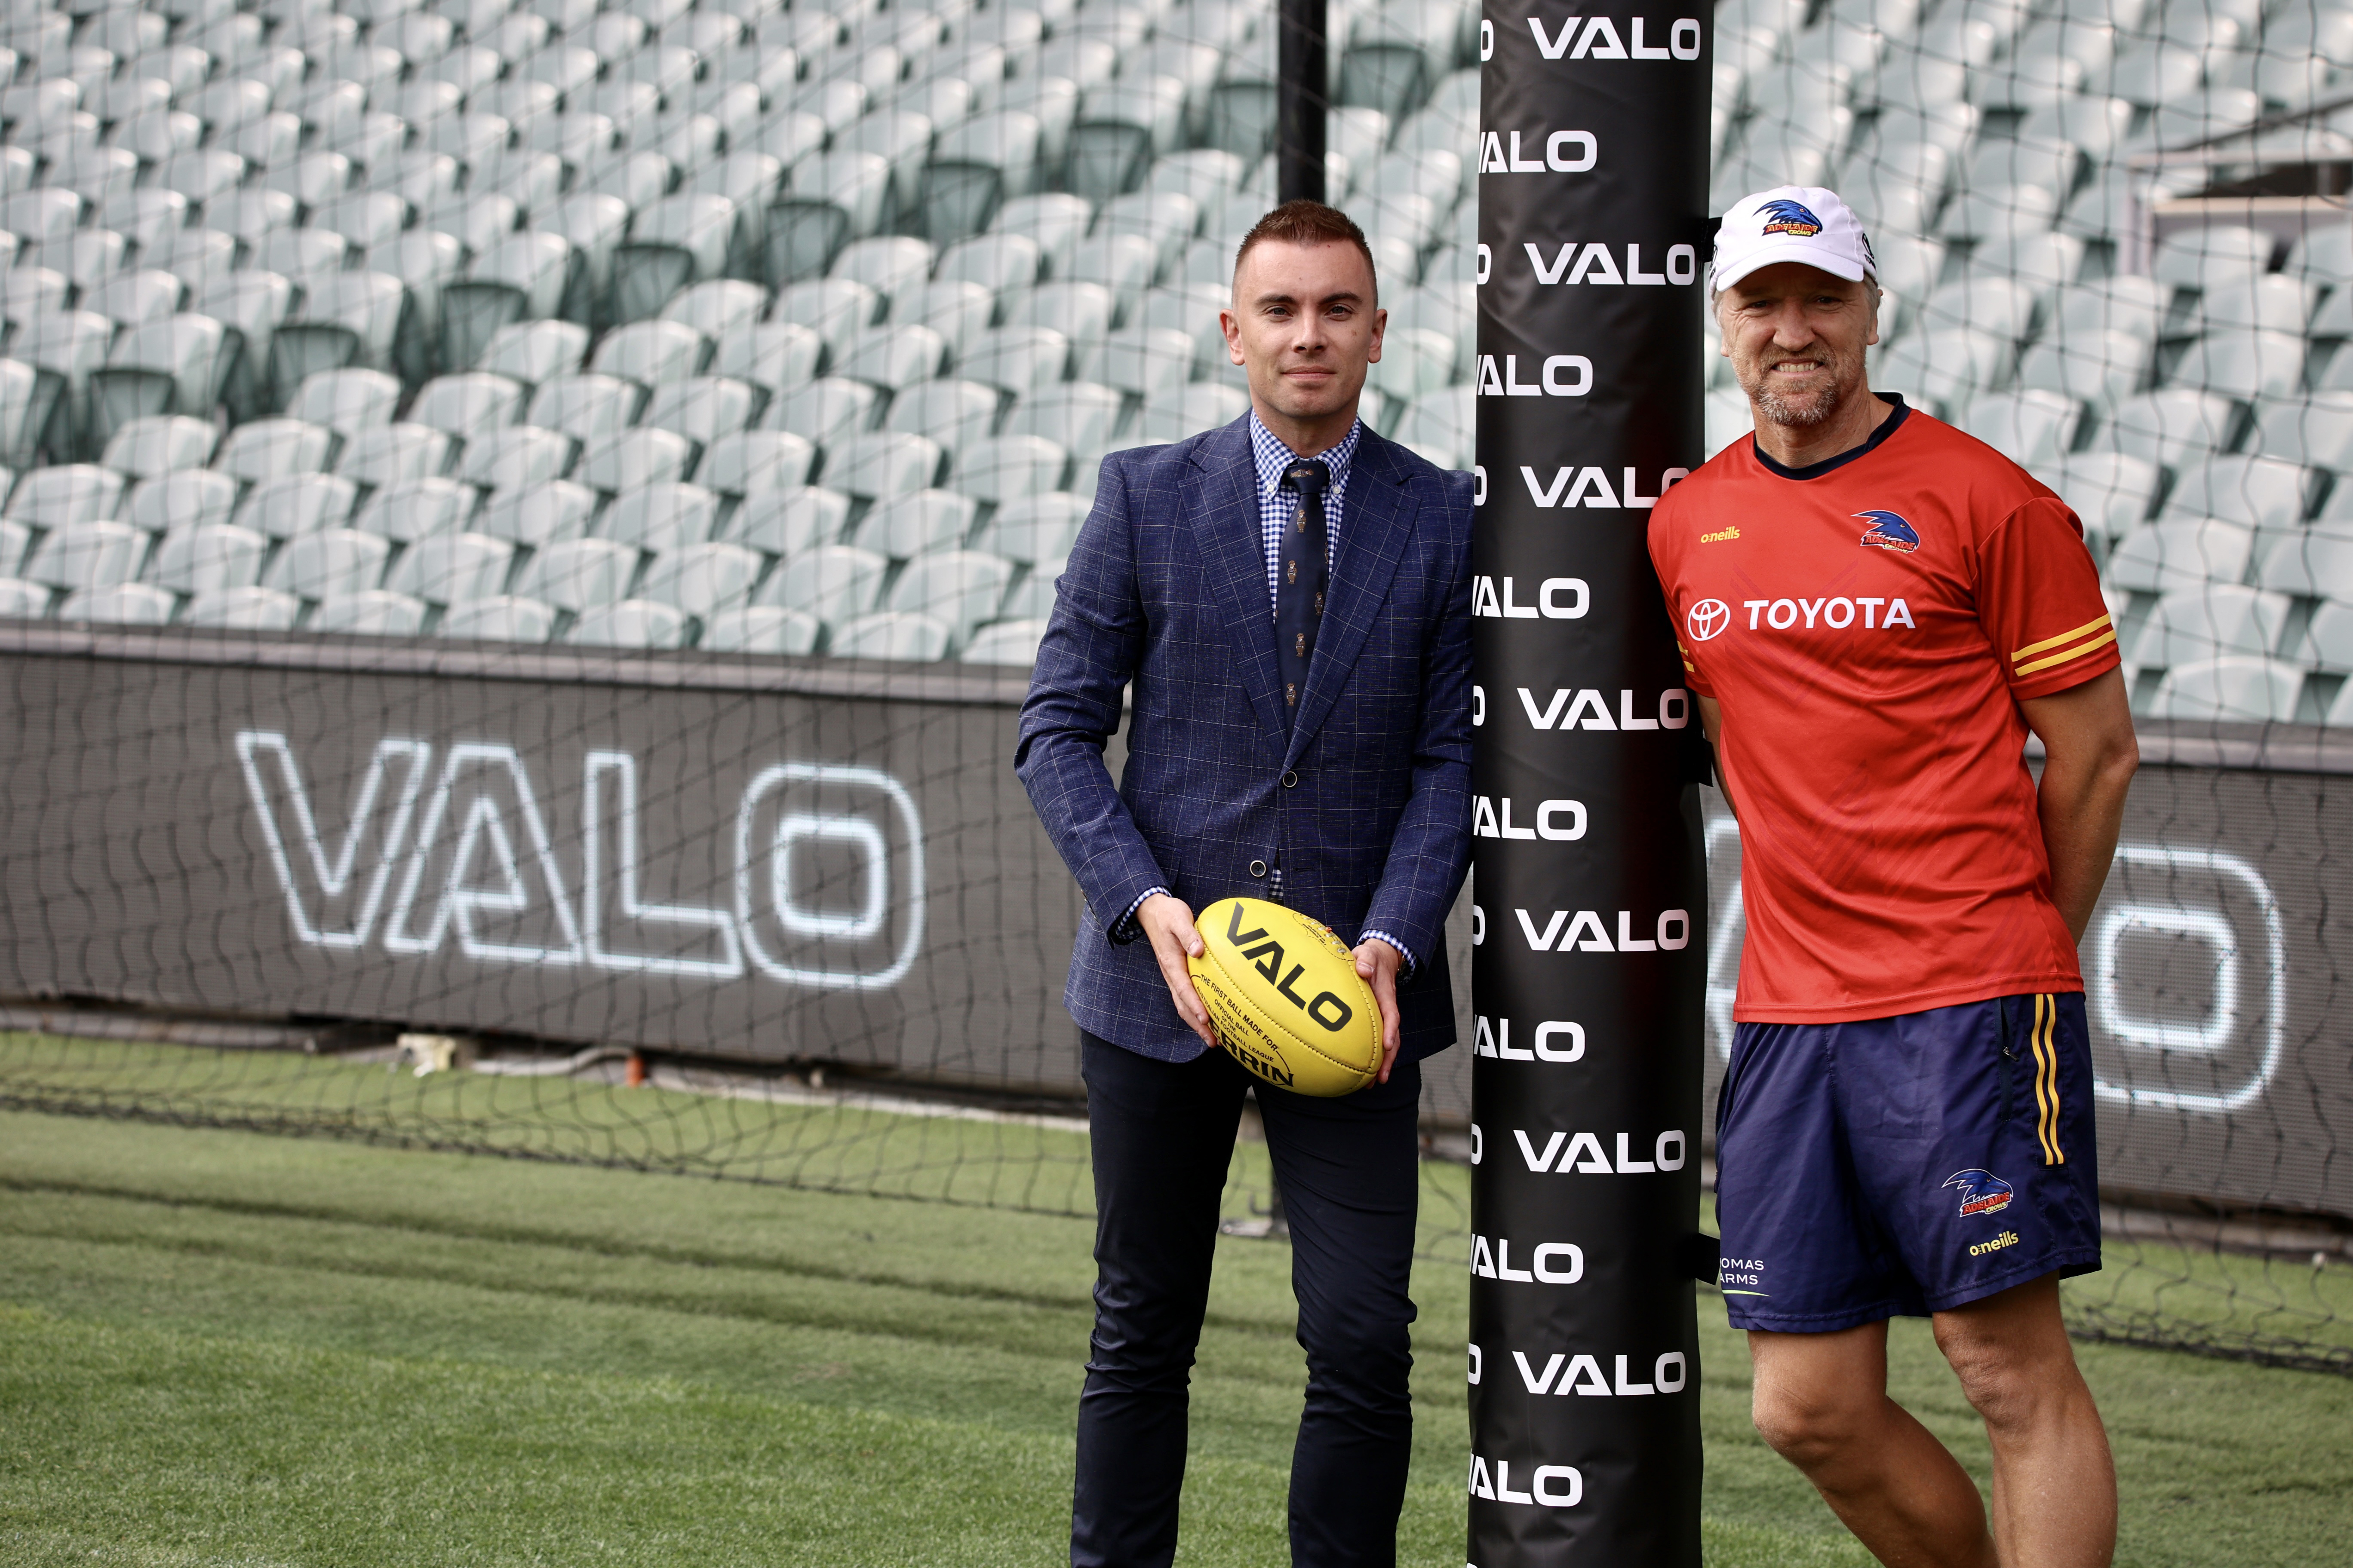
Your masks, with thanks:
M 2080 943 L 2092 905 L 2108 882 L 2115 835 L 2125 827 L 2125 792 L 2141 766 L 2122 670 L 2019 703 L 2042 738 L 2042 844 L 2052 858 L 2052 900 Z

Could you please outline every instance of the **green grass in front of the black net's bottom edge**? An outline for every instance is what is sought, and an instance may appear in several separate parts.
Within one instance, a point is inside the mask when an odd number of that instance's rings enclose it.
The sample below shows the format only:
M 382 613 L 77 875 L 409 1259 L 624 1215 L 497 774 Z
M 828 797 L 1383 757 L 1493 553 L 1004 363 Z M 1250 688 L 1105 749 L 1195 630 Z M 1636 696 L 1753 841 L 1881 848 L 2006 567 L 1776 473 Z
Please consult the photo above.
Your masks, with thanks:
M 9 1112 L 0 1234 L 12 1566 L 1064 1561 L 1082 1220 Z M 1285 1561 L 1287 1269 L 1219 1248 L 1184 1563 Z M 1459 1265 L 1417 1298 L 1402 1544 L 1452 1568 Z M 2118 1561 L 2341 1561 L 2353 1380 L 2082 1359 Z M 1925 1326 L 1894 1378 L 1981 1474 Z M 1746 1382 L 1704 1298 L 1708 1561 L 1864 1563 L 1748 1429 Z

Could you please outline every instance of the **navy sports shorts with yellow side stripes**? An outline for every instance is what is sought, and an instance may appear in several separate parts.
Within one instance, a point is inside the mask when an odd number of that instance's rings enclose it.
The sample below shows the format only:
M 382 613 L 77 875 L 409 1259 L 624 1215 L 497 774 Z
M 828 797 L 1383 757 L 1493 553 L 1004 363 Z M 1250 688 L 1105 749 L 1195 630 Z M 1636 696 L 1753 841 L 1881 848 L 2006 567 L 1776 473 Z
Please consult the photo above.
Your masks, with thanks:
M 1831 1333 L 2099 1267 L 2082 992 L 1744 1023 L 1715 1112 L 1734 1328 Z

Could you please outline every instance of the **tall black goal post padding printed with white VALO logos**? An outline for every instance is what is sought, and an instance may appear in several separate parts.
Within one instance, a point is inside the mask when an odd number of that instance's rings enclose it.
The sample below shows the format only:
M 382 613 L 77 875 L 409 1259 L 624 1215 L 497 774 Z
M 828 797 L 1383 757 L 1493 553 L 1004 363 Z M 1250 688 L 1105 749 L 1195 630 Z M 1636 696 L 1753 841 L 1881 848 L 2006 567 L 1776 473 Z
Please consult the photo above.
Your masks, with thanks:
M 1704 750 L 1647 527 L 1704 456 L 1711 9 L 1480 24 L 1475 1568 L 1699 1568 Z

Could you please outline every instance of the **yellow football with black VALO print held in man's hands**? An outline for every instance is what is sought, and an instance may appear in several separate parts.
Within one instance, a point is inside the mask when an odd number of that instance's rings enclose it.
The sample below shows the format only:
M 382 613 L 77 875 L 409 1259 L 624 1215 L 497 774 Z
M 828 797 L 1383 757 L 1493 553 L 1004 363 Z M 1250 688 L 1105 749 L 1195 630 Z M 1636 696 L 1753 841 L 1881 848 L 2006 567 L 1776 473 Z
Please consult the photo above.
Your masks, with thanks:
M 1381 1009 L 1332 931 L 1264 898 L 1200 912 L 1186 959 L 1217 1039 L 1249 1072 L 1304 1095 L 1355 1093 L 1381 1070 Z

